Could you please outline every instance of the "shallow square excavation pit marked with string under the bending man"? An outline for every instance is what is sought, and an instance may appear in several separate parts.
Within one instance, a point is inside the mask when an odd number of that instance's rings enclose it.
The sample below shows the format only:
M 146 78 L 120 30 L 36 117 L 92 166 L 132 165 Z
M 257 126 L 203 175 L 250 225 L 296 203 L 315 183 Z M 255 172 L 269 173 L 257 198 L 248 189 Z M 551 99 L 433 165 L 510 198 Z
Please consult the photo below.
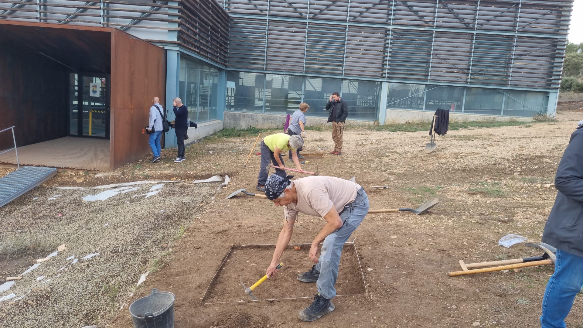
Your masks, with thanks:
M 244 246 L 233 247 L 229 257 L 220 267 L 219 273 L 213 279 L 205 296 L 205 303 L 248 301 L 239 283 L 243 279 L 246 287 L 251 287 L 265 275 L 265 270 L 271 263 L 275 246 Z M 253 292 L 258 299 L 310 297 L 317 294 L 316 283 L 297 280 L 298 273 L 310 270 L 310 245 L 301 245 L 300 250 L 288 246 L 280 262 L 283 267 Z M 354 245 L 346 244 L 342 249 L 338 280 L 336 281 L 338 295 L 363 294 L 364 281 L 357 259 Z

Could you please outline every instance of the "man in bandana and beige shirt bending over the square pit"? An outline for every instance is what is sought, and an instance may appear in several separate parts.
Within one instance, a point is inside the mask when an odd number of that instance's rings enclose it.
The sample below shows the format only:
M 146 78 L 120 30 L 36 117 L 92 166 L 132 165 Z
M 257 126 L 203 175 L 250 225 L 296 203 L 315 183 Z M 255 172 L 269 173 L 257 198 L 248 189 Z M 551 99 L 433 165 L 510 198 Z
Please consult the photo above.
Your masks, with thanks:
M 334 285 L 338 278 L 340 252 L 367 215 L 368 197 L 359 184 L 338 177 L 308 176 L 290 181 L 292 177 L 276 172 L 265 184 L 265 196 L 276 206 L 283 206 L 285 218 L 266 275 L 271 277 L 278 272 L 279 258 L 290 242 L 298 213 L 326 219 L 310 247 L 310 260 L 316 264 L 297 275 L 298 280 L 315 282 L 318 288 L 318 295 L 314 296 L 311 305 L 300 311 L 300 320 L 314 321 L 334 310 L 331 299 L 336 296 Z M 318 257 L 321 242 L 324 243 Z

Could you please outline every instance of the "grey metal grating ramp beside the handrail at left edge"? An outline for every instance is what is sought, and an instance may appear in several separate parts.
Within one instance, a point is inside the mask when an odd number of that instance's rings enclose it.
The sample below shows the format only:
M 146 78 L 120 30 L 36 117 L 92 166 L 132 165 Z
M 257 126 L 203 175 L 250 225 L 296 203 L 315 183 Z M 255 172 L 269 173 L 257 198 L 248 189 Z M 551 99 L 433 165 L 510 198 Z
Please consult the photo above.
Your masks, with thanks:
M 0 178 L 0 207 L 57 175 L 55 168 L 23 166 Z

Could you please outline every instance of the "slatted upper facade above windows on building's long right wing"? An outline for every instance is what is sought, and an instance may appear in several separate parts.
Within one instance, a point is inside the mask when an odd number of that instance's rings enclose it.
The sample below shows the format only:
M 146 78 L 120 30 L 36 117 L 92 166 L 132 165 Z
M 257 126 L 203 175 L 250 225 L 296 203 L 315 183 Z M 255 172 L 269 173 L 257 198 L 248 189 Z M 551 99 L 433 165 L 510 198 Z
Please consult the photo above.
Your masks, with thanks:
M 559 88 L 572 0 L 218 0 L 229 69 Z

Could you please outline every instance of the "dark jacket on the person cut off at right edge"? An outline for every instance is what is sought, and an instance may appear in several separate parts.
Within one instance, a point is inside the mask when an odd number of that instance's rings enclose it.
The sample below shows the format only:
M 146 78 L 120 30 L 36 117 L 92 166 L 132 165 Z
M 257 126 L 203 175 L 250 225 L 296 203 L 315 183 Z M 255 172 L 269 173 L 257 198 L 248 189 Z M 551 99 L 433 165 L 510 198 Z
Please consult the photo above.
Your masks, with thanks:
M 543 231 L 543 242 L 583 257 L 583 128 L 569 140 L 557 168 L 559 193 Z

